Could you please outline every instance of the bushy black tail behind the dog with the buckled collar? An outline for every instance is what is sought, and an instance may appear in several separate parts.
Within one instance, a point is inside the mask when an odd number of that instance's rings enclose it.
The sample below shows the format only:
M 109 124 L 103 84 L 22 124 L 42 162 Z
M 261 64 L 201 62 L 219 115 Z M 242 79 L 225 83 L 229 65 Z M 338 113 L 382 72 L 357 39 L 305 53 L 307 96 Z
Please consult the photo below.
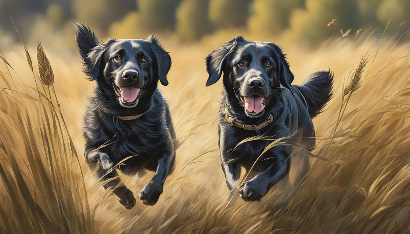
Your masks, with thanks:
M 332 97 L 333 73 L 319 71 L 313 73 L 301 85 L 292 85 L 292 91 L 305 102 L 310 118 L 321 113 Z

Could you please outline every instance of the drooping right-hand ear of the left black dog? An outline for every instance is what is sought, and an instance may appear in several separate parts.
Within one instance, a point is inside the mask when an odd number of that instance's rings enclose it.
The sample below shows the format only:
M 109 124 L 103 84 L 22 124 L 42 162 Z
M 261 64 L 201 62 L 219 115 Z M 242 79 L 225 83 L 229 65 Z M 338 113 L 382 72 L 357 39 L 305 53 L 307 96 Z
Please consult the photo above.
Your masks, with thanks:
M 171 56 L 164 50 L 156 36 L 150 35 L 146 41 L 152 45 L 155 59 L 157 60 L 159 81 L 162 85 L 166 86 L 168 85 L 166 75 L 171 68 Z

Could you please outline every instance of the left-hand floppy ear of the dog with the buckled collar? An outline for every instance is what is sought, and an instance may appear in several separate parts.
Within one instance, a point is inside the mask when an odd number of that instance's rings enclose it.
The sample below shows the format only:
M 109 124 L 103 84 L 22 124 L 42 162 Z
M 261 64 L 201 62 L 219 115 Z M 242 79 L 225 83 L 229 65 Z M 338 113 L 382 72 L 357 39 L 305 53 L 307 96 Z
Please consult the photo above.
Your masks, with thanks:
M 235 45 L 244 41 L 246 40 L 243 36 L 237 36 L 231 41 L 228 41 L 216 50 L 212 51 L 212 53 L 210 53 L 206 57 L 206 70 L 209 74 L 209 77 L 205 86 L 215 84 L 221 78 L 225 59 L 228 57 L 230 51 L 235 47 Z

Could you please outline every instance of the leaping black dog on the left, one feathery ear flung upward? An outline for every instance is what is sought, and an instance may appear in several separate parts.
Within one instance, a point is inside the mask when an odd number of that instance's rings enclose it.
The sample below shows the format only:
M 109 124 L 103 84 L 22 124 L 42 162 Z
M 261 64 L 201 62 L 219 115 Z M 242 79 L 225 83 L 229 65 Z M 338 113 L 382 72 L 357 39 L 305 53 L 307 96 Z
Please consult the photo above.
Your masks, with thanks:
M 171 57 L 154 36 L 103 43 L 87 25 L 75 26 L 84 74 L 97 82 L 84 116 L 85 159 L 90 168 L 100 164 L 97 174 L 106 182 L 104 188 L 114 189 L 127 209 L 136 200 L 110 169 L 132 156 L 119 167 L 121 172 L 155 171 L 138 196 L 154 205 L 175 160 L 171 115 L 157 89 L 158 79 L 168 84 Z

